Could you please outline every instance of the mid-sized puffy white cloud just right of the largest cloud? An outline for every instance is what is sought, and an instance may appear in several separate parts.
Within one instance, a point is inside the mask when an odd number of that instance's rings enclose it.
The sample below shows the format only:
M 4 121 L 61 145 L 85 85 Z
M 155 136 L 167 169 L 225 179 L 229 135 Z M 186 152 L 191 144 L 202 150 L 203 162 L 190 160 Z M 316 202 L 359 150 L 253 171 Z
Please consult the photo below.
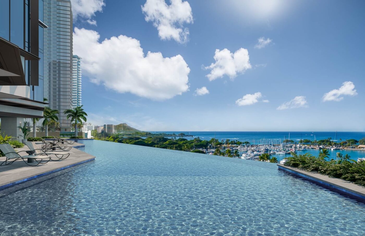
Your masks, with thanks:
M 251 68 L 249 51 L 245 48 L 240 48 L 234 53 L 231 53 L 227 48 L 222 51 L 215 49 L 214 60 L 215 63 L 205 67 L 205 69 L 211 70 L 207 75 L 210 81 L 224 75 L 234 79 L 237 73 L 244 73 Z

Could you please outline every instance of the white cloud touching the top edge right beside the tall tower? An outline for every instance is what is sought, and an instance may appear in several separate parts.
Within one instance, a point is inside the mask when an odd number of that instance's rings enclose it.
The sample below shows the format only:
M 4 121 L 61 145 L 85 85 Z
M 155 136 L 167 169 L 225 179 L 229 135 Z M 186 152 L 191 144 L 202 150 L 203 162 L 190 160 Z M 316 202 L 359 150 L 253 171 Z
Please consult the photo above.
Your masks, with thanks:
M 71 0 L 73 19 L 81 17 L 89 24 L 96 25 L 92 17 L 95 16 L 95 12 L 103 11 L 104 6 L 104 0 Z

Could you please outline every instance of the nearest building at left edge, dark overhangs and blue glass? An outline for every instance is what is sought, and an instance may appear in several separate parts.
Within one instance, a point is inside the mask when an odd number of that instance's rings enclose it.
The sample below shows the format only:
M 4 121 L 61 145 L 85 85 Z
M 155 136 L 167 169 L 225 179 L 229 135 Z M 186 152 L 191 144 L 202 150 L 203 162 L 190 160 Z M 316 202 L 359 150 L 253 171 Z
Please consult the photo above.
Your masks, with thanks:
M 0 1 L 1 133 L 22 139 L 24 118 L 43 117 L 43 0 Z

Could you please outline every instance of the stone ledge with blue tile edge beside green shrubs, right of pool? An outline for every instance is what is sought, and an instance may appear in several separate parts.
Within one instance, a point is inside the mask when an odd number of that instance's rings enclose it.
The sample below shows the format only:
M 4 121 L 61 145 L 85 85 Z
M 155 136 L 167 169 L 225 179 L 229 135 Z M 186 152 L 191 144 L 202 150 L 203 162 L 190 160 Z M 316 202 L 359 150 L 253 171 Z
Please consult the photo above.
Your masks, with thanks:
M 287 167 L 282 164 L 277 164 L 277 165 L 279 169 L 282 169 L 294 175 L 304 177 L 305 179 L 309 179 L 314 182 L 335 188 L 339 191 L 346 192 L 350 195 L 360 197 L 361 199 L 365 199 L 365 188 L 360 185 L 342 179 L 331 178 L 327 175 L 321 175 L 318 173 L 303 171 L 298 168 Z

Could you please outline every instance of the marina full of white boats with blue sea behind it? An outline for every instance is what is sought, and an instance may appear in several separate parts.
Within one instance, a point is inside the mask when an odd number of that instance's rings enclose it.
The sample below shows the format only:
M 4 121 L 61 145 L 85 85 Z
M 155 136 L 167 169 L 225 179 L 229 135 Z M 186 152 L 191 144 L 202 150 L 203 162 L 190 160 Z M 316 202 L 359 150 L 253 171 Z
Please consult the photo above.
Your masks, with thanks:
M 188 133 L 188 132 L 187 132 Z M 219 133 L 217 135 L 217 133 Z M 257 133 L 269 136 L 271 138 L 264 138 L 257 136 Z M 213 139 L 221 139 L 220 142 L 223 145 L 220 148 L 221 152 L 225 152 L 226 149 L 230 149 L 232 152 L 235 150 L 239 151 L 239 158 L 247 159 L 247 160 L 258 160 L 259 156 L 268 153 L 272 157 L 276 157 L 278 161 L 283 160 L 285 157 L 291 156 L 292 152 L 298 154 L 309 153 L 313 156 L 318 155 L 321 149 L 327 149 L 329 152 L 328 159 L 336 159 L 337 153 L 341 153 L 342 155 L 350 155 L 351 159 L 358 160 L 365 157 L 365 148 L 362 148 L 360 145 L 358 148 L 357 146 L 341 146 L 341 142 L 345 141 L 346 139 L 339 138 L 339 135 L 344 136 L 348 139 L 356 139 L 360 140 L 362 137 L 365 136 L 365 132 L 320 132 L 320 139 L 316 138 L 316 134 L 309 134 L 309 138 L 303 139 L 304 132 L 210 132 L 210 134 L 214 134 L 212 137 Z M 209 137 L 206 139 L 205 137 L 200 137 L 199 135 L 206 135 L 207 133 L 193 133 L 192 138 L 199 138 L 204 140 L 210 140 Z M 298 136 L 300 134 L 300 139 Z M 308 135 L 304 133 L 304 136 Z M 198 135 L 198 136 L 197 136 Z M 282 138 L 278 137 L 278 135 L 284 135 Z M 294 135 L 294 137 L 293 137 Z M 334 139 L 330 137 L 326 137 L 329 135 L 333 135 Z M 237 136 L 234 138 L 222 138 L 222 136 Z M 250 138 L 251 137 L 251 138 Z M 317 143 L 318 140 L 323 139 L 330 139 L 332 145 L 319 145 Z M 255 139 L 254 139 L 255 138 Z M 219 139 L 218 139 L 219 140 Z M 310 140 L 311 144 L 303 143 L 303 140 Z M 242 144 L 240 145 L 231 145 L 231 141 L 239 141 Z M 216 147 L 210 147 L 208 149 L 201 149 L 205 153 L 209 155 L 214 155 Z

